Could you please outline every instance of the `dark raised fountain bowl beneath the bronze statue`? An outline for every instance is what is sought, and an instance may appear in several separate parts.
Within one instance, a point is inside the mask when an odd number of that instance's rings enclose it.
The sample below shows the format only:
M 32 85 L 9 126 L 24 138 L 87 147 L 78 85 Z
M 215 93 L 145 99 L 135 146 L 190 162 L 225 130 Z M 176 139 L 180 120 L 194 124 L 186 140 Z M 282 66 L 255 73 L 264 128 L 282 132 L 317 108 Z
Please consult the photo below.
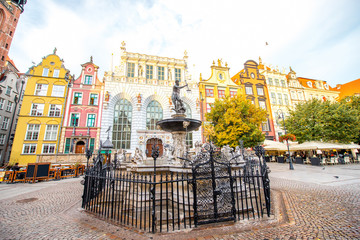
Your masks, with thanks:
M 184 127 L 184 122 L 189 122 L 187 128 Z M 201 121 L 192 118 L 168 118 L 156 123 L 161 130 L 166 132 L 191 132 L 198 130 L 201 126 Z

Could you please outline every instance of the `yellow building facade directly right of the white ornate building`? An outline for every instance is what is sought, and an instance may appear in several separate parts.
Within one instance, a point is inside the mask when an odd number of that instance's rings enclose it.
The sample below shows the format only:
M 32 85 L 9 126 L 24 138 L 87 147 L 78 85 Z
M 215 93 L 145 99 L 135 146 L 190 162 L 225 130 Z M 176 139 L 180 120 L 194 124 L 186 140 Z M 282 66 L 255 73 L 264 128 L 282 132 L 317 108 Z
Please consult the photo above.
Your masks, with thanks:
M 227 63 L 223 65 L 222 61 L 219 59 L 217 65 L 215 64 L 215 61 L 213 61 L 210 78 L 203 79 L 200 75 L 199 99 L 201 121 L 206 122 L 205 114 L 211 111 L 211 105 L 215 100 L 225 96 L 241 94 L 242 86 L 231 81 L 229 69 Z M 206 139 L 203 132 L 202 138 L 202 141 L 204 142 Z

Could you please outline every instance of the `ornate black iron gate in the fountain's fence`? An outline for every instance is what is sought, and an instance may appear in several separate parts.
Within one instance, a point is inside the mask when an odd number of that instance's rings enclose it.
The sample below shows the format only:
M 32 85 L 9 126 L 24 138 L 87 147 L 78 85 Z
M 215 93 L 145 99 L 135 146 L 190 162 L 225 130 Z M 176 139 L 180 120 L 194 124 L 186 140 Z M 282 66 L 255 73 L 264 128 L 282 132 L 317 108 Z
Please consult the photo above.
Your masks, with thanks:
M 235 221 L 235 197 L 230 164 L 220 152 L 202 155 L 208 160 L 193 166 L 194 223 Z

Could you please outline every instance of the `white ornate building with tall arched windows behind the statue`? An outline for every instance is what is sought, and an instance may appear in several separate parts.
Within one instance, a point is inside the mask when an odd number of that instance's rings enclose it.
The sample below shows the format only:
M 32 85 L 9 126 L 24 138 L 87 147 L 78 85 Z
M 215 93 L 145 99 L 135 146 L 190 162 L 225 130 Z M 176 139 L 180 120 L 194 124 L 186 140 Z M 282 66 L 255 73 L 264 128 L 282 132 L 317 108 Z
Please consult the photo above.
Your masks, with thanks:
M 175 79 L 180 85 L 188 83 L 188 88 L 181 90 L 187 117 L 200 120 L 198 82 L 191 79 L 187 61 L 186 52 L 183 59 L 131 53 L 122 42 L 120 65 L 104 75 L 100 139 L 104 141 L 109 134 L 114 149 L 134 153 L 139 148 L 148 156 L 155 142 L 162 154 L 163 145 L 172 144 L 172 137 L 170 133 L 158 130 L 156 122 L 175 113 L 171 103 Z M 187 135 L 188 146 L 193 147 L 196 141 L 201 141 L 200 131 Z

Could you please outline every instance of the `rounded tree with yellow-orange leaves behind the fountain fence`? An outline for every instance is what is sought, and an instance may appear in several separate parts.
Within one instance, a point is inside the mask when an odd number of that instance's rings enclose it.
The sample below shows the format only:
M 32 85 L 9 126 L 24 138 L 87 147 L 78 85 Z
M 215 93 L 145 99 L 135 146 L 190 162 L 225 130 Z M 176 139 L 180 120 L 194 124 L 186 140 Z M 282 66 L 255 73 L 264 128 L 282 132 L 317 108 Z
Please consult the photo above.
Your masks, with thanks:
M 227 96 L 216 100 L 211 111 L 205 115 L 208 121 L 205 128 L 211 140 L 219 147 L 236 147 L 239 140 L 244 141 L 244 147 L 253 147 L 265 139 L 260 125 L 266 121 L 266 115 L 265 110 L 257 108 L 241 96 Z

